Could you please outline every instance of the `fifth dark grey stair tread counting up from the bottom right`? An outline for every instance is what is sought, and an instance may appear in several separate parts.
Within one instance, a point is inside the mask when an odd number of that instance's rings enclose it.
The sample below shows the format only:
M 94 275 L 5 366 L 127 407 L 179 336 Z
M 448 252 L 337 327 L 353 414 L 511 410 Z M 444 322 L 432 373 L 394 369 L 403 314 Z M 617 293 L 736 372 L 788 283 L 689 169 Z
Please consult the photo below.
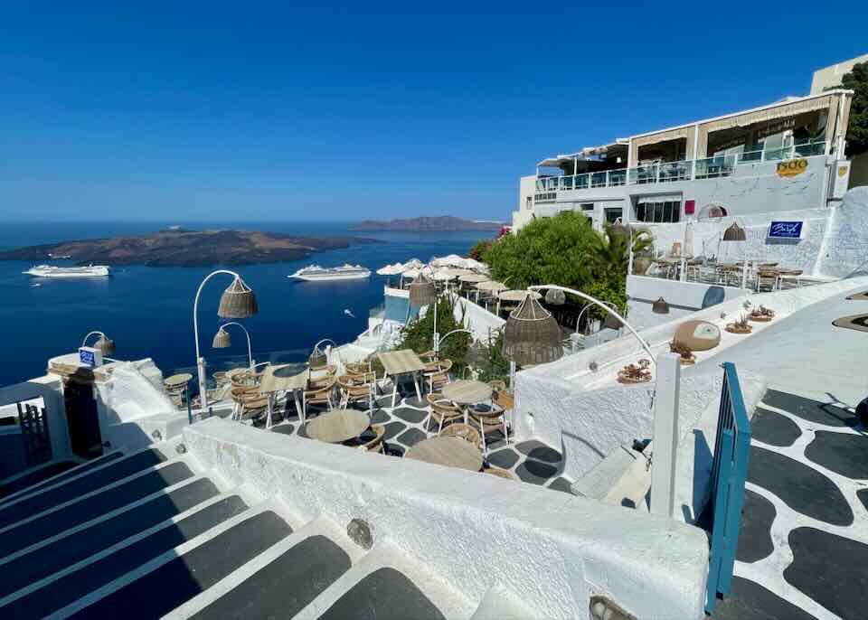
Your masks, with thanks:
M 159 495 L 107 519 L 92 522 L 70 535 L 61 536 L 12 561 L 2 563 L 0 570 L 5 578 L 0 579 L 0 598 L 167 521 L 219 493 L 211 480 L 193 479 L 171 493 Z

